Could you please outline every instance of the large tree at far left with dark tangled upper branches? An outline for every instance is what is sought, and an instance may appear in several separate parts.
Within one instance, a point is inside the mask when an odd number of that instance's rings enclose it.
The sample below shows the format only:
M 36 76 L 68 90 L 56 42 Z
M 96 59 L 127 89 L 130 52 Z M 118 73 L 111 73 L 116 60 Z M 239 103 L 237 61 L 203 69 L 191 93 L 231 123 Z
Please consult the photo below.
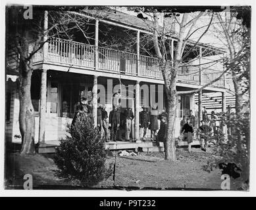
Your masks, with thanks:
M 51 10 L 52 9 L 52 10 Z M 53 37 L 72 39 L 74 31 L 84 35 L 84 42 L 91 43 L 94 33 L 88 31 L 91 21 L 69 12 L 69 7 L 33 7 L 33 18 L 24 18 L 24 7 L 7 6 L 7 56 L 17 62 L 19 74 L 19 125 L 22 138 L 22 154 L 35 152 L 35 113 L 30 88 L 34 72 L 33 62 L 36 53 Z M 73 8 L 74 9 L 74 8 Z M 78 8 L 80 11 L 83 8 Z M 49 10 L 49 11 L 47 11 Z M 44 28 L 45 12 L 48 27 Z

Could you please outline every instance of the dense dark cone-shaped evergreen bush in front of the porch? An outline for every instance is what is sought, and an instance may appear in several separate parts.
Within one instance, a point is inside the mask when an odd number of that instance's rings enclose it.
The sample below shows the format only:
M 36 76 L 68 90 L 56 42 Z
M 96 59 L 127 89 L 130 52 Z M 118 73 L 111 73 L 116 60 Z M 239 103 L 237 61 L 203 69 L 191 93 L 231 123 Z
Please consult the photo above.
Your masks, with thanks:
M 85 186 L 93 186 L 105 178 L 105 142 L 93 127 L 93 119 L 78 116 L 74 126 L 61 138 L 55 162 L 62 175 L 78 179 Z

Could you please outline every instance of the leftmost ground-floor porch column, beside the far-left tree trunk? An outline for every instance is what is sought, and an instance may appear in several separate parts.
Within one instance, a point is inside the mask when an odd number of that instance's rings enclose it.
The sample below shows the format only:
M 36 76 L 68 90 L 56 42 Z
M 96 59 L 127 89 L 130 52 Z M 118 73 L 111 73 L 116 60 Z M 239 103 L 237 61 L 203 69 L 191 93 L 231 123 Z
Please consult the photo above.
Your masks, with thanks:
M 47 70 L 41 70 L 39 139 L 38 139 L 39 144 L 45 144 L 46 89 L 47 89 Z

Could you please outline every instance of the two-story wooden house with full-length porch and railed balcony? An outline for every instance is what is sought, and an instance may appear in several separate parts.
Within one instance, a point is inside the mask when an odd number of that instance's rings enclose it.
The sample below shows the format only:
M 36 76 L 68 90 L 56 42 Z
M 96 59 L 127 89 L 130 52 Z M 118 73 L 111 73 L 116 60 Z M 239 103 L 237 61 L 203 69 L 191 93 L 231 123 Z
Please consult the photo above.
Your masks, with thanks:
M 79 15 L 90 20 L 90 30 L 94 33 L 94 39 L 85 43 L 81 35 L 74 36 L 74 40 L 55 37 L 50 39 L 36 54 L 31 88 L 32 102 L 36 111 L 36 143 L 57 144 L 57 140 L 66 135 L 66 125 L 71 123 L 75 106 L 81 96 L 91 98 L 93 102 L 99 100 L 96 104 L 105 104 L 109 113 L 113 105 L 111 97 L 118 89 L 122 90 L 122 97 L 127 98 L 127 104 L 130 104 L 134 110 L 132 135 L 138 140 L 141 107 L 149 106 L 150 108 L 153 104 L 158 104 L 161 109 L 166 107 L 164 81 L 158 60 L 141 51 L 141 37 L 150 34 L 147 27 L 150 22 L 120 11 L 109 12 L 104 16 L 96 16 L 93 11 L 83 11 Z M 45 12 L 45 27 L 47 28 L 47 12 Z M 108 39 L 104 36 L 104 30 L 109 28 L 115 34 L 115 37 L 111 39 L 122 39 L 122 32 L 130 31 L 129 34 L 134 35 L 134 40 L 136 40 L 134 45 L 126 48 L 122 43 L 122 49 L 110 45 L 104 46 L 102 43 L 107 43 Z M 170 55 L 173 56 L 177 41 L 175 33 L 168 39 L 171 45 Z M 204 56 L 202 53 L 205 51 L 207 54 L 209 51 L 212 52 L 210 53 L 211 60 L 214 57 L 216 59 L 221 57 L 224 53 L 216 47 L 198 43 L 197 54 L 201 56 L 201 62 L 210 59 L 210 56 Z M 16 63 L 7 58 L 5 137 L 12 142 L 20 142 L 16 67 Z M 217 78 L 222 71 L 221 64 L 209 67 L 190 62 L 178 72 L 177 91 L 198 89 Z M 132 91 L 128 91 L 129 85 Z M 42 91 L 40 87 L 43 87 Z M 147 87 L 149 94 L 145 94 Z M 206 87 L 203 92 L 219 92 L 224 98 L 226 93 L 224 87 L 223 77 L 213 85 Z M 104 99 L 102 98 L 104 95 L 100 94 L 103 93 L 103 89 L 105 89 Z M 101 95 L 101 98 L 98 98 L 98 95 Z M 96 112 L 97 107 L 93 110 Z M 189 110 L 197 113 L 195 95 L 178 96 L 176 137 L 179 135 L 180 120 L 182 116 L 189 114 Z M 222 100 L 222 110 L 226 110 L 225 100 Z M 41 124 L 41 121 L 46 123 Z

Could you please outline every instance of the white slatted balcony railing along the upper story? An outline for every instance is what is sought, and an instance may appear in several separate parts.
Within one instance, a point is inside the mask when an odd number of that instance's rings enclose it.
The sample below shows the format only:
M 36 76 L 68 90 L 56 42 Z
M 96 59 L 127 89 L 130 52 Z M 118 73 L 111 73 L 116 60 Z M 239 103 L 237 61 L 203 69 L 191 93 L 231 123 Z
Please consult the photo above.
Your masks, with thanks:
M 95 51 L 97 53 L 95 53 Z M 95 59 L 96 54 L 97 59 Z M 40 53 L 40 55 L 42 56 L 42 53 Z M 39 55 L 36 56 L 36 61 L 40 60 L 39 57 Z M 137 68 L 137 60 L 137 54 L 134 53 L 116 51 L 105 47 L 97 47 L 96 49 L 95 46 L 92 45 L 59 38 L 49 41 L 47 54 L 47 62 L 72 64 L 83 68 L 93 68 L 113 73 L 163 79 L 157 58 L 140 55 L 139 68 Z M 167 66 L 171 66 L 171 63 L 167 62 Z M 137 69 L 139 69 L 139 72 L 137 72 Z M 199 66 L 182 66 L 178 70 L 178 81 L 182 83 L 205 85 L 221 74 L 218 70 L 211 70 L 209 68 L 202 69 L 200 83 L 199 72 Z M 212 86 L 224 87 L 224 79 L 218 80 L 213 83 Z

